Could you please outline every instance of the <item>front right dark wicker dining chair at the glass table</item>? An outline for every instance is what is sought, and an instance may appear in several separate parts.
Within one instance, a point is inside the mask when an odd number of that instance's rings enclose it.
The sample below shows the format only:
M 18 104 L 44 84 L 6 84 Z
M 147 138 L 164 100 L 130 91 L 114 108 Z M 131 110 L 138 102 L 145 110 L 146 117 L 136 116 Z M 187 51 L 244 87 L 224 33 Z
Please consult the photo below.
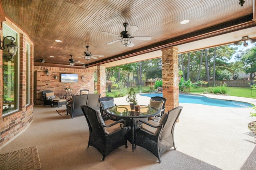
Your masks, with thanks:
M 135 131 L 135 147 L 140 146 L 154 154 L 161 162 L 160 156 L 172 147 L 174 144 L 174 127 L 182 110 L 181 106 L 164 113 L 159 123 L 154 120 L 138 120 Z M 142 124 L 141 124 L 142 123 Z

